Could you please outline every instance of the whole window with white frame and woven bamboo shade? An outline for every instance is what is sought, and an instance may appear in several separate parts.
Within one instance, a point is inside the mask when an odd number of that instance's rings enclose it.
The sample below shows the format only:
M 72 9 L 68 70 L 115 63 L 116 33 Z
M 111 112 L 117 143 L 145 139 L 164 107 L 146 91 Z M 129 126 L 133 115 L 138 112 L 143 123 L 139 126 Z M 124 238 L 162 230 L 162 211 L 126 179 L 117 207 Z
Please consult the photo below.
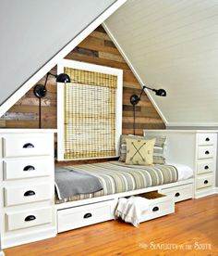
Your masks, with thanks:
M 64 88 L 58 84 L 58 160 L 117 156 L 122 70 L 63 60 L 60 72 L 66 72 L 71 83 Z

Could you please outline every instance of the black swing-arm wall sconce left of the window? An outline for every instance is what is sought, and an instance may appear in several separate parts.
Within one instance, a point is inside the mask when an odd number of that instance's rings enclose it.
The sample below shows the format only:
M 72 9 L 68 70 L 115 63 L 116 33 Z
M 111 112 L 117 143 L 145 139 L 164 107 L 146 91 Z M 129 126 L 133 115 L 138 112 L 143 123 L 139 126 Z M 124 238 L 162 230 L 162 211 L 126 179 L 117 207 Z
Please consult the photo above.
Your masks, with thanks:
M 44 84 L 36 84 L 33 93 L 34 96 L 39 98 L 39 128 L 42 128 L 42 97 L 46 96 L 47 89 L 46 84 L 48 81 L 49 75 L 52 75 L 56 78 L 57 83 L 70 83 L 70 77 L 66 73 L 60 73 L 59 75 L 55 75 L 53 73 L 48 72 L 46 74 L 46 79 Z

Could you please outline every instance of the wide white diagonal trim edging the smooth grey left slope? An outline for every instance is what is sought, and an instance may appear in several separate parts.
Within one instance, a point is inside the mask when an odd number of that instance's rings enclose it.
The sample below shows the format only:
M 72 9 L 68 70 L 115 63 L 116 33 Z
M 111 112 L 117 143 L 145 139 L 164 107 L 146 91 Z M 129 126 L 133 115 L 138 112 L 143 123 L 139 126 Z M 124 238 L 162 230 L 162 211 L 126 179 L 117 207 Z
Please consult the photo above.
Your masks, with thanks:
M 55 65 L 62 58 L 65 58 L 69 52 L 71 52 L 79 43 L 85 39 L 92 31 L 94 31 L 105 19 L 112 15 L 117 8 L 122 6 L 127 0 L 117 0 L 112 6 L 109 6 L 100 17 L 95 19 L 91 24 L 79 33 L 76 38 L 72 39 L 60 52 L 58 52 L 54 58 L 51 58 L 42 69 L 38 70 L 32 77 L 21 85 L 21 87 L 12 96 L 10 96 L 5 103 L 0 106 L 0 117 L 3 116 L 8 109 L 10 109 L 21 96 L 24 96 L 30 88 L 37 83 L 42 77 L 49 71 L 52 70 Z

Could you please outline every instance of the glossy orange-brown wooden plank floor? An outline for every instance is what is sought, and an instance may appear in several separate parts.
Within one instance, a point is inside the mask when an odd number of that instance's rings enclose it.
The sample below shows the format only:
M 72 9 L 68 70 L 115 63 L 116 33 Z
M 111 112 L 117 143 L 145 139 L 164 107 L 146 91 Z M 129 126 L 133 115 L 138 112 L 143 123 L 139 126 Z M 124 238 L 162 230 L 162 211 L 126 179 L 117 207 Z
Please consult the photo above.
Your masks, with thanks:
M 110 221 L 5 250 L 17 255 L 218 255 L 218 195 L 176 204 L 136 228 Z

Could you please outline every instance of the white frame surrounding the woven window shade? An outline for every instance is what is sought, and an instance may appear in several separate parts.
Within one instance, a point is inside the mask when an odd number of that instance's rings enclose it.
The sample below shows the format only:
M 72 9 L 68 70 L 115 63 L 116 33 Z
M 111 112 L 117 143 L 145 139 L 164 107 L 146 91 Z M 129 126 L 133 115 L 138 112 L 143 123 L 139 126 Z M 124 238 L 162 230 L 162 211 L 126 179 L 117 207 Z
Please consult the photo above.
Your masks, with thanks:
M 115 158 L 119 156 L 119 138 L 122 134 L 123 109 L 123 70 L 109 68 L 76 60 L 62 59 L 57 64 L 57 74 L 63 73 L 65 68 L 102 72 L 117 76 L 115 93 L 115 156 L 98 159 Z M 65 155 L 65 88 L 63 83 L 57 83 L 57 160 L 66 160 Z M 93 158 L 90 158 L 93 159 Z M 89 160 L 89 159 L 72 159 Z

